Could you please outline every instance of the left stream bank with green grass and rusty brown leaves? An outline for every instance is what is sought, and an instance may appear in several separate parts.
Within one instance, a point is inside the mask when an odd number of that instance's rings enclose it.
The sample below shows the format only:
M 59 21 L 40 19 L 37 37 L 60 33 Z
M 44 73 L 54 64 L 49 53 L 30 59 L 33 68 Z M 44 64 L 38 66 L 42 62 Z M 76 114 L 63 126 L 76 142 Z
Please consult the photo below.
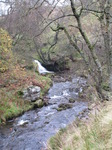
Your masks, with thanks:
M 33 108 L 31 102 L 25 101 L 22 98 L 22 91 L 25 88 L 30 85 L 41 87 L 42 97 L 52 83 L 49 77 L 41 76 L 33 71 L 21 70 L 21 68 L 14 71 L 16 71 L 16 74 L 12 75 L 12 72 L 9 72 L 9 74 L 3 73 L 1 76 L 0 124 Z

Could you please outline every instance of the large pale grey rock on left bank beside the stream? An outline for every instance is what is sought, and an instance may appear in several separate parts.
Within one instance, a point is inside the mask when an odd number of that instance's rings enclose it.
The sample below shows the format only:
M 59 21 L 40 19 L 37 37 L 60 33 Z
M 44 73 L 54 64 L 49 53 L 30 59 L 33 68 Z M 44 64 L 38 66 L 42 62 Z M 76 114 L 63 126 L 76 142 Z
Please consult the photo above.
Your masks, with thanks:
M 23 91 L 23 98 L 35 102 L 40 98 L 41 88 L 39 86 L 30 86 Z

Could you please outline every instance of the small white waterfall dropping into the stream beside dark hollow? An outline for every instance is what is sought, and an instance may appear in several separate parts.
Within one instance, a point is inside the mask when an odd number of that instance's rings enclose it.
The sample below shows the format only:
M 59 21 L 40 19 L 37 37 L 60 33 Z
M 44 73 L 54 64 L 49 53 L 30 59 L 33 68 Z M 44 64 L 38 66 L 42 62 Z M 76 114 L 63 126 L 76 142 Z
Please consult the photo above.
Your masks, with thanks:
M 53 71 L 48 71 L 46 68 L 44 68 L 38 60 L 34 60 L 33 63 L 35 70 L 37 69 L 40 74 L 54 73 Z

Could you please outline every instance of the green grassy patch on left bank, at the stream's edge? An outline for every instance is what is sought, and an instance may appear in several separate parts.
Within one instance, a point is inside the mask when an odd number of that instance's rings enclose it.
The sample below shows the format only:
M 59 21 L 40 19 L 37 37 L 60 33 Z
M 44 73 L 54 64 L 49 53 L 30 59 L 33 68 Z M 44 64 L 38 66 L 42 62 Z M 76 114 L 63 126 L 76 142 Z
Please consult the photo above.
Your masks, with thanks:
M 5 93 L 5 94 L 4 94 Z M 33 106 L 15 95 L 14 91 L 7 92 L 6 89 L 0 91 L 0 122 L 16 117 Z

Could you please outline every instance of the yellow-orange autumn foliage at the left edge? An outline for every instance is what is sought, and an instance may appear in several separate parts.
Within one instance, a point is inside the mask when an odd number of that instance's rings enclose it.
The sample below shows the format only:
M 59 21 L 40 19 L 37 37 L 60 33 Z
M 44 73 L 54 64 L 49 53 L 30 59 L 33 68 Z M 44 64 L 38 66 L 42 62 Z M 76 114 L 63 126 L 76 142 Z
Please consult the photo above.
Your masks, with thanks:
M 12 61 L 12 39 L 8 32 L 0 29 L 0 72 L 5 72 L 9 69 Z

